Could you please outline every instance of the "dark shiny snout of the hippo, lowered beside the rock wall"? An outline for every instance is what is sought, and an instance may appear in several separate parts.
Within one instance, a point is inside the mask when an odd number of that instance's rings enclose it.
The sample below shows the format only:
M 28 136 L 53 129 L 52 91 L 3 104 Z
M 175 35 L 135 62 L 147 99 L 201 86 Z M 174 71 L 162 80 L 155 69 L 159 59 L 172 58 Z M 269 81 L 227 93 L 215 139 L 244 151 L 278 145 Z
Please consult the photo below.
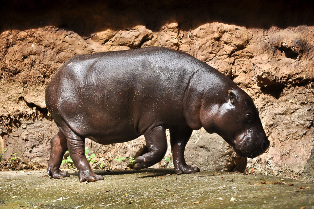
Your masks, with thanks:
M 236 143 L 234 150 L 241 157 L 254 158 L 263 154 L 269 147 L 269 140 L 265 133 L 257 134 L 252 137 L 252 134 L 247 134 L 242 137 L 239 143 Z

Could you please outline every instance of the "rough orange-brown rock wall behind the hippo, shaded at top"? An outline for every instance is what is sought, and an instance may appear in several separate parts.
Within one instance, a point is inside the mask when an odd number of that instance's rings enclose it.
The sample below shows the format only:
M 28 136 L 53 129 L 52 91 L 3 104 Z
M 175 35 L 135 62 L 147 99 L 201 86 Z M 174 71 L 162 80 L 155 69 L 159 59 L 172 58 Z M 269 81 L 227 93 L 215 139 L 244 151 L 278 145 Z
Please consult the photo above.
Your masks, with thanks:
M 274 175 L 302 173 L 314 146 L 313 3 L 0 4 L 0 146 L 8 148 L 5 157 L 18 152 L 24 161 L 47 162 L 49 140 L 57 127 L 46 110 L 44 89 L 67 59 L 75 54 L 162 46 L 206 62 L 253 98 L 270 147 L 249 159 L 248 167 Z M 106 150 L 105 159 L 111 161 L 117 152 L 133 155 L 143 143 L 142 138 L 101 148 L 90 141 L 88 145 Z M 187 156 L 196 159 L 195 149 L 190 148 Z M 119 165 L 113 161 L 111 166 Z

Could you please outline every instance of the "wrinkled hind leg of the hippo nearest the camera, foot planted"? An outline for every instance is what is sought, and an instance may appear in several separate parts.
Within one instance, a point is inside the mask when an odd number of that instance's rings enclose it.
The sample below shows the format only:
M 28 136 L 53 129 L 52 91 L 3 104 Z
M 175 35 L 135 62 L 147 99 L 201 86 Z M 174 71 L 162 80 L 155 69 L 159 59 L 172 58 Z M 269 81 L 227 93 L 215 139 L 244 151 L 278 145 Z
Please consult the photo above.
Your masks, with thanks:
M 69 154 L 73 160 L 74 165 L 78 169 L 79 182 L 104 180 L 101 175 L 95 174 L 85 156 L 85 138 L 81 138 L 76 135 L 67 137 L 67 144 Z

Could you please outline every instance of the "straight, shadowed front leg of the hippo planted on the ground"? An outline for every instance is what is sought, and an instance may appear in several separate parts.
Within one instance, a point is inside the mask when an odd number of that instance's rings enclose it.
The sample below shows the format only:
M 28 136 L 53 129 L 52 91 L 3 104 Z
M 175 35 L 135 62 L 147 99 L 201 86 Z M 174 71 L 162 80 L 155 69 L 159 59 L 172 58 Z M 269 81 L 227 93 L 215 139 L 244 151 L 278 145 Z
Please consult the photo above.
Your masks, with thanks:
M 173 165 L 176 174 L 195 173 L 200 171 L 198 167 L 188 166 L 184 159 L 185 146 L 191 137 L 192 131 L 193 130 L 189 127 L 169 128 Z

